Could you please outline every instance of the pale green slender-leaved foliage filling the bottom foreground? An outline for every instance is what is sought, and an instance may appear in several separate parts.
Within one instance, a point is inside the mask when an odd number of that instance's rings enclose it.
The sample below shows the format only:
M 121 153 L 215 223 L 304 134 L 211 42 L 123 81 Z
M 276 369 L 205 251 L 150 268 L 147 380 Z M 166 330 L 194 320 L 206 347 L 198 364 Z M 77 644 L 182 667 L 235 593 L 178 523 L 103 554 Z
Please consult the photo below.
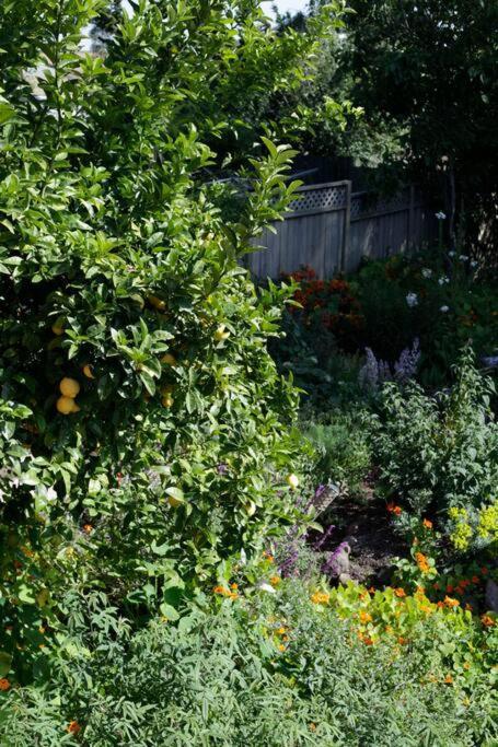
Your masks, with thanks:
M 460 612 L 412 630 L 409 645 L 368 645 L 351 629 L 361 590 L 349 622 L 337 615 L 345 602 L 313 602 L 312 590 L 282 582 L 277 595 L 225 599 L 218 612 L 198 597 L 178 625 L 137 634 L 102 599 L 74 598 L 50 684 L 0 693 L 0 744 L 56 747 L 72 742 L 74 722 L 88 747 L 494 744 L 496 692 L 478 655 L 448 681 L 455 651 L 482 643 L 451 622 Z

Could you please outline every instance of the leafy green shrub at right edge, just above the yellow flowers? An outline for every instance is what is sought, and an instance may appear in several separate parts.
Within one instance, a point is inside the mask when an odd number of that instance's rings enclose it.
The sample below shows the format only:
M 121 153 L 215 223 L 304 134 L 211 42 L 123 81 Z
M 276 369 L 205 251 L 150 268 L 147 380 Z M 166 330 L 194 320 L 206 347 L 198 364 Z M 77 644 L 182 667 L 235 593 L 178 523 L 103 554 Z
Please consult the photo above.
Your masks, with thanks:
M 475 369 L 470 349 L 462 353 L 455 376 L 450 390 L 433 396 L 414 382 L 405 388 L 386 384 L 372 448 L 389 497 L 398 497 L 417 516 L 437 512 L 443 522 L 450 515 L 454 523 L 464 515 L 476 529 L 475 544 L 483 546 L 496 541 L 497 533 L 498 425 L 489 409 L 494 386 Z M 456 549 L 466 549 L 473 534 L 471 529 Z

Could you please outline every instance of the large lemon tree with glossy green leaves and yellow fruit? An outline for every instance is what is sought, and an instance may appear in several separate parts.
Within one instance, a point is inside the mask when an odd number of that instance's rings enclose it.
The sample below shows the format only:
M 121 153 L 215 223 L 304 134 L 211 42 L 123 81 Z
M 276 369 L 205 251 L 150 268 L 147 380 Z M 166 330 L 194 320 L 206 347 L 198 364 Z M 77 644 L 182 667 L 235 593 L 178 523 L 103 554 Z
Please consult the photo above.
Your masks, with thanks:
M 62 587 L 173 617 L 290 514 L 297 393 L 266 349 L 289 289 L 240 260 L 293 151 L 262 124 L 231 166 L 225 133 L 315 39 L 258 4 L 134 1 L 97 55 L 102 0 L 1 3 L 0 652 L 21 678 Z

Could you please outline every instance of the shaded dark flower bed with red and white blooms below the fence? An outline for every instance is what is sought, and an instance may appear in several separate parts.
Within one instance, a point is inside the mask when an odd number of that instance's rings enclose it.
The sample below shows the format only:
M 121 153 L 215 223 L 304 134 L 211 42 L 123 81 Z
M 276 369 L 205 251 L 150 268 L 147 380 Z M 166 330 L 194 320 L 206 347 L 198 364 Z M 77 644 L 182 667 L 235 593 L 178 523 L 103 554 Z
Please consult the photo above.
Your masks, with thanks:
M 357 396 L 358 353 L 369 348 L 391 367 L 417 346 L 417 373 L 426 386 L 452 381 L 461 348 L 472 340 L 478 361 L 496 354 L 498 289 L 467 255 L 425 250 L 366 261 L 347 278 L 320 280 L 312 268 L 289 276 L 299 282 L 285 319 L 287 337 L 274 343 L 312 398 Z M 349 357 L 345 357 L 348 353 Z

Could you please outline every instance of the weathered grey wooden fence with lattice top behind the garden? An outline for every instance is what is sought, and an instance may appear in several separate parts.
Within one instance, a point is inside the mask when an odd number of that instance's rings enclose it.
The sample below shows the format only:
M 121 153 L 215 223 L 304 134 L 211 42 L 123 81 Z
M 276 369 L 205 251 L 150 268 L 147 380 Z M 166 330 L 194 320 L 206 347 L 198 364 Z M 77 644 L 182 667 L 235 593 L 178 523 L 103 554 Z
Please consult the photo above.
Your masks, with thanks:
M 433 211 L 414 186 L 391 198 L 351 192 L 351 182 L 301 187 L 285 220 L 255 240 L 265 247 L 245 258 L 257 278 L 277 278 L 310 265 L 320 278 L 355 270 L 362 257 L 381 258 L 433 241 Z

